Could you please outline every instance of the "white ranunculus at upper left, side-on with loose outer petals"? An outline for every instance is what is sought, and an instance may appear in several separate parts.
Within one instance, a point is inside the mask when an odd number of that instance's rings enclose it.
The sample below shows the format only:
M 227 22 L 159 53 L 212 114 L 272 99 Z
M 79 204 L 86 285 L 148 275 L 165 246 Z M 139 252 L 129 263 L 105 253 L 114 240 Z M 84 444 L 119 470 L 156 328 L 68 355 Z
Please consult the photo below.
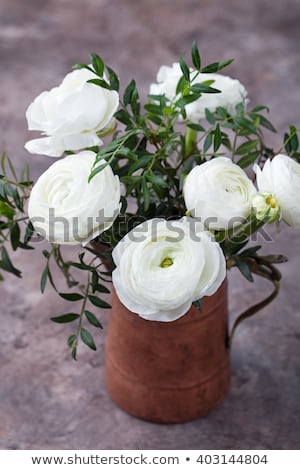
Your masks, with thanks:
M 102 144 L 97 133 L 112 126 L 119 95 L 87 83 L 91 78 L 96 75 L 89 70 L 74 70 L 59 86 L 44 91 L 29 105 L 28 129 L 46 136 L 26 143 L 30 153 L 59 157 L 65 150 Z

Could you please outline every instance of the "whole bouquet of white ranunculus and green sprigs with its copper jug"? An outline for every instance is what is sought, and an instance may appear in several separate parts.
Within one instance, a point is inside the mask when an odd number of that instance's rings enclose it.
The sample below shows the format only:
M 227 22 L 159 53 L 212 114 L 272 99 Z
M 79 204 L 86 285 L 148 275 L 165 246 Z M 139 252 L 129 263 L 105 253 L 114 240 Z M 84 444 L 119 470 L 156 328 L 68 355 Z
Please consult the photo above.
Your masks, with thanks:
M 112 281 L 107 385 L 129 412 L 156 421 L 199 416 L 223 398 L 233 333 L 275 298 L 274 264 L 286 261 L 247 244 L 265 224 L 300 228 L 297 129 L 289 127 L 275 152 L 263 134 L 275 132 L 268 108 L 251 109 L 245 87 L 219 73 L 232 60 L 202 66 L 193 43 L 187 62 L 162 66 L 142 104 L 135 80 L 121 97 L 116 73 L 91 54 L 26 113 L 42 137 L 25 148 L 62 158 L 33 184 L 29 169 L 18 177 L 3 154 L 0 176 L 0 269 L 21 277 L 10 248 L 50 242 L 41 290 L 49 282 L 80 303 L 77 313 L 52 318 L 75 325 L 67 340 L 74 359 L 80 341 L 96 350 L 91 331 L 102 328 L 97 308 L 110 308 L 103 295 Z M 64 245 L 78 245 L 78 254 L 69 259 Z M 228 334 L 233 268 L 250 282 L 253 274 L 269 279 L 273 291 Z

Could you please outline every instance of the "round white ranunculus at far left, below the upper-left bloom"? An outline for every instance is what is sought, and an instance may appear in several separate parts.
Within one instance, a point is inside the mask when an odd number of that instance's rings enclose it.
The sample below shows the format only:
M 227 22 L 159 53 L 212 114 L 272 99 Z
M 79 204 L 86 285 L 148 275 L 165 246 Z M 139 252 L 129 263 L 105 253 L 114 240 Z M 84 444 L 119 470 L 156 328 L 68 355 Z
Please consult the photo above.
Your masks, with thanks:
M 120 209 L 119 178 L 110 166 L 90 182 L 95 153 L 83 151 L 56 161 L 35 183 L 28 214 L 52 243 L 86 244 L 113 224 Z

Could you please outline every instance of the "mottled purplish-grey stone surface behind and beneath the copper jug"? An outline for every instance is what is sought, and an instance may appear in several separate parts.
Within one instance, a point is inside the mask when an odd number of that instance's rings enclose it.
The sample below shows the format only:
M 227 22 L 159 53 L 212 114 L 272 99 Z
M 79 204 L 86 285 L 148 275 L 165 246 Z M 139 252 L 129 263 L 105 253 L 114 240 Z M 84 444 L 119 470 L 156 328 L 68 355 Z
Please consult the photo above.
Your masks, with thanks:
M 145 96 L 158 67 L 171 64 L 196 39 L 205 62 L 236 57 L 230 74 L 246 85 L 252 104 L 267 104 L 280 130 L 300 121 L 300 4 L 298 0 L 2 0 L 0 3 L 0 148 L 37 176 L 46 157 L 26 155 L 24 112 L 75 62 L 98 52 L 122 77 L 133 76 Z M 280 135 L 268 135 L 278 150 Z M 0 286 L 0 448 L 2 449 L 299 449 L 299 232 L 284 228 L 265 252 L 283 252 L 282 291 L 237 332 L 232 385 L 207 418 L 156 425 L 127 416 L 103 385 L 98 351 L 65 347 L 72 327 L 49 317 L 66 310 L 47 289 L 39 293 L 42 257 L 17 254 L 22 281 Z M 41 247 L 39 247 L 40 250 Z M 232 320 L 266 295 L 230 275 Z M 101 319 L 106 323 L 108 313 Z

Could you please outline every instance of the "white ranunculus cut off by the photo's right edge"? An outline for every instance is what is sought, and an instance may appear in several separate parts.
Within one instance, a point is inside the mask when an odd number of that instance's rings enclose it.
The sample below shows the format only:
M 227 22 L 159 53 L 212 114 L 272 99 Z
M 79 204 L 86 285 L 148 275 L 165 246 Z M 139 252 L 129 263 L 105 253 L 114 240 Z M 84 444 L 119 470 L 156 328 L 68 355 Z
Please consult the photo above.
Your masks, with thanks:
M 281 209 L 283 220 L 300 228 L 300 165 L 287 155 L 267 160 L 261 170 L 254 166 L 259 191 L 272 193 Z

